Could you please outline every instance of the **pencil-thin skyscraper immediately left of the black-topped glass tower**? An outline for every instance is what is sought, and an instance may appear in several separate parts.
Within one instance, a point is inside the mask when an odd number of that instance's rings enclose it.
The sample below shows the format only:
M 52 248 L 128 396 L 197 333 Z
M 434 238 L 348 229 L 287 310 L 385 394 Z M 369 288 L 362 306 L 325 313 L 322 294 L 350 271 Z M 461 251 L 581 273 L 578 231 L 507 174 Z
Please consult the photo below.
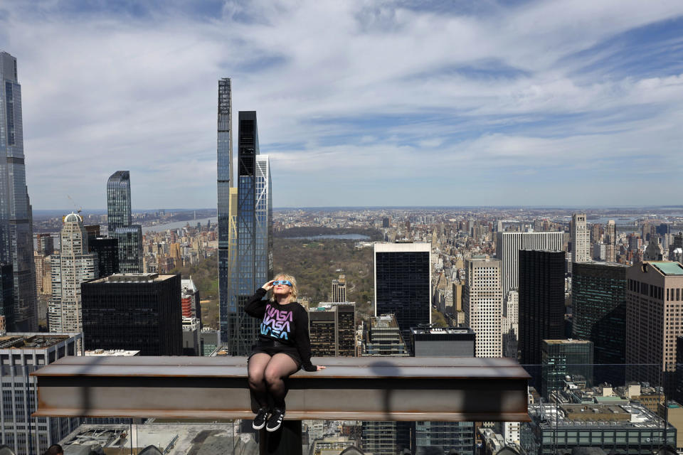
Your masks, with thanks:
M 218 80 L 218 309 L 221 315 L 221 336 L 228 335 L 228 308 L 231 296 L 231 275 L 233 274 L 235 251 L 231 239 L 236 231 L 234 219 L 236 197 L 233 188 L 233 109 L 232 88 L 229 77 Z M 233 191 L 235 190 L 235 191 Z M 234 206 L 233 206 L 234 205 Z M 232 210 L 231 210 L 232 209 Z M 233 259 L 233 260 L 231 260 Z

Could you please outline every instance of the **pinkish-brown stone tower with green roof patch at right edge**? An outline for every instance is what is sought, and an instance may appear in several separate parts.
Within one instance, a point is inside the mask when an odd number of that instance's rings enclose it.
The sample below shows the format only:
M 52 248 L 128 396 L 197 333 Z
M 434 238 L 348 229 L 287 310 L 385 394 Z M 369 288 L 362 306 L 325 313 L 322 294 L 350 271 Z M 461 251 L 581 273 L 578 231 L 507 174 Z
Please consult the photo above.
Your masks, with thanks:
M 662 385 L 662 372 L 674 370 L 676 337 L 683 335 L 683 266 L 637 262 L 626 278 L 626 363 L 636 365 L 628 379 Z

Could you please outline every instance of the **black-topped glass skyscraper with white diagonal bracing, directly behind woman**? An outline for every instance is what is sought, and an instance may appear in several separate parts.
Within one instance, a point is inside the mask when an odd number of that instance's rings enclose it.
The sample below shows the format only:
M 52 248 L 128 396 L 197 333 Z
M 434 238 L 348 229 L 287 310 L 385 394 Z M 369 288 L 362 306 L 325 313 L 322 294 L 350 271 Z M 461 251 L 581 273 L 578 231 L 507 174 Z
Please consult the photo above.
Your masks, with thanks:
M 272 279 L 270 161 L 259 155 L 255 111 L 240 111 L 238 131 L 237 252 L 227 311 L 221 312 L 221 340 L 231 355 L 248 355 L 256 340 L 256 319 L 244 312 L 254 291 Z

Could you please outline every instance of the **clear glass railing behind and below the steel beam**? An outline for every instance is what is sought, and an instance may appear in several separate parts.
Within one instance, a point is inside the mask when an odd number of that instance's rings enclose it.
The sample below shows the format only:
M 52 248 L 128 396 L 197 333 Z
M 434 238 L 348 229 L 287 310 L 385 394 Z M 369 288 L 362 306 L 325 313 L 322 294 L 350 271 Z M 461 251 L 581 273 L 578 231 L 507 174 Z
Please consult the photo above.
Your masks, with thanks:
M 683 365 L 664 370 L 560 359 L 523 366 L 531 375 L 529 422 L 305 420 L 302 454 L 355 453 L 351 446 L 373 455 L 558 455 L 577 448 L 593 454 L 683 453 Z M 35 409 L 35 383 L 15 373 L 11 384 L 3 378 L 1 422 L 3 444 L 17 455 L 42 454 L 55 442 L 66 455 L 88 453 L 86 446 L 95 454 L 259 453 L 260 434 L 250 420 L 28 417 L 29 408 Z

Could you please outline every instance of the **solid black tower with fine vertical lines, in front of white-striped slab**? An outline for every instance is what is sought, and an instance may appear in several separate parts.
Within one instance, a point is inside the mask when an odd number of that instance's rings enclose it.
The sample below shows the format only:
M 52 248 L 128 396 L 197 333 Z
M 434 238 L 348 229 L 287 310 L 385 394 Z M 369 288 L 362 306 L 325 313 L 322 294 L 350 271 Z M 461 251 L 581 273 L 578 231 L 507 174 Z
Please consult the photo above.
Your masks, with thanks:
M 541 363 L 541 341 L 564 338 L 564 252 L 519 251 L 521 363 Z

